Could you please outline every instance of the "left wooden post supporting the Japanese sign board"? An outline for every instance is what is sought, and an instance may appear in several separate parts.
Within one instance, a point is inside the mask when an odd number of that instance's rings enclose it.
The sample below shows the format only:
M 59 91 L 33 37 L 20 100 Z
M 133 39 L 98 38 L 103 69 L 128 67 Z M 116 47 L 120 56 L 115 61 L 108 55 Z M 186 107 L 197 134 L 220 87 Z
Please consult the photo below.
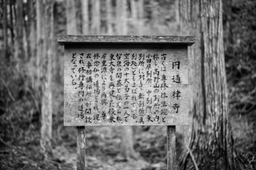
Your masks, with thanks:
M 85 126 L 77 126 L 76 169 L 85 170 Z

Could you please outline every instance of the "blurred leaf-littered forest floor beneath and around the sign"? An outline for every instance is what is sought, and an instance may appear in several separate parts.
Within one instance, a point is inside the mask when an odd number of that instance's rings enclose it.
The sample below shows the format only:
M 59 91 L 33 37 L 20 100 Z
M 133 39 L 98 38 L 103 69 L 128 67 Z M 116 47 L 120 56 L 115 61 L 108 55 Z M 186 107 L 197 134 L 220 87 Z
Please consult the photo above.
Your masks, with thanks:
M 246 115 L 233 114 L 231 125 L 236 148 L 256 161 L 256 110 Z M 136 126 L 134 148 L 140 159 L 125 160 L 119 155 L 121 131 L 117 127 L 86 127 L 87 170 L 166 170 L 166 127 Z M 54 135 L 53 159 L 42 162 L 38 139 L 16 146 L 0 147 L 1 170 L 76 170 L 76 128 L 61 127 Z M 59 139 L 58 139 L 59 138 Z M 177 135 L 177 150 L 180 141 Z M 179 155 L 179 153 L 178 153 Z M 252 167 L 253 168 L 253 167 Z

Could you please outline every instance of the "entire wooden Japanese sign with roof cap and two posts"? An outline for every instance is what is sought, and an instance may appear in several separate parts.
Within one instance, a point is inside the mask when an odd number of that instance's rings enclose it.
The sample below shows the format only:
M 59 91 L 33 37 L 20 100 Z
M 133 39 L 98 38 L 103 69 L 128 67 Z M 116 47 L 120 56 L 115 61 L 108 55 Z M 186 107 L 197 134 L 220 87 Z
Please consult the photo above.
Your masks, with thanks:
M 64 126 L 167 125 L 168 170 L 176 169 L 175 125 L 189 124 L 188 46 L 193 36 L 59 35 L 64 45 Z

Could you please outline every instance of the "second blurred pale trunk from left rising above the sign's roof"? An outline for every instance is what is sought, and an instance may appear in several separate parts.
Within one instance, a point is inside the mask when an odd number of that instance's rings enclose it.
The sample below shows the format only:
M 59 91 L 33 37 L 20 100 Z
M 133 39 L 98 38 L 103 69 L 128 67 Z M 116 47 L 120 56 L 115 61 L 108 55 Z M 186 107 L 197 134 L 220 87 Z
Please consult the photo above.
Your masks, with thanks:
M 89 34 L 89 8 L 88 8 L 88 0 L 81 0 L 82 6 L 82 34 Z

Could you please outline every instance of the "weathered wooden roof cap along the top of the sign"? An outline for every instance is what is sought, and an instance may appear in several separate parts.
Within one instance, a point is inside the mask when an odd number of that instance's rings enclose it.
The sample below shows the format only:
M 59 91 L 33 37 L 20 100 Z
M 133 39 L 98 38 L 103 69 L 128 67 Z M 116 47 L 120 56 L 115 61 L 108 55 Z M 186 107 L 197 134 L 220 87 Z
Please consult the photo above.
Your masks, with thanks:
M 60 45 L 70 43 L 166 43 L 192 45 L 195 36 L 57 35 Z

